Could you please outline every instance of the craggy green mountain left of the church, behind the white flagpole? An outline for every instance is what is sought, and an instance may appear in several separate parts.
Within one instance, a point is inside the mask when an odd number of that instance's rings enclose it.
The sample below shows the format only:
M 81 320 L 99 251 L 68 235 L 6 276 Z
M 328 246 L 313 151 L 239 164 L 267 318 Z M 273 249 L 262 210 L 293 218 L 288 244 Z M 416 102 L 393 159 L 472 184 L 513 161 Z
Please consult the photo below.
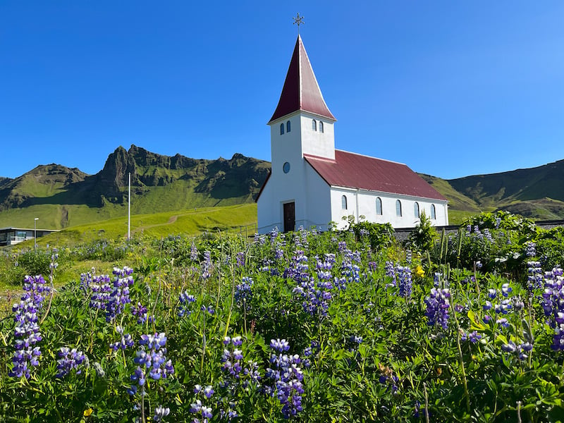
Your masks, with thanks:
M 147 214 L 252 202 L 270 169 L 268 161 L 190 159 L 132 145 L 109 154 L 102 171 L 87 175 L 57 164 L 0 179 L 0 227 L 66 228 L 123 216 L 131 173 L 132 213 Z

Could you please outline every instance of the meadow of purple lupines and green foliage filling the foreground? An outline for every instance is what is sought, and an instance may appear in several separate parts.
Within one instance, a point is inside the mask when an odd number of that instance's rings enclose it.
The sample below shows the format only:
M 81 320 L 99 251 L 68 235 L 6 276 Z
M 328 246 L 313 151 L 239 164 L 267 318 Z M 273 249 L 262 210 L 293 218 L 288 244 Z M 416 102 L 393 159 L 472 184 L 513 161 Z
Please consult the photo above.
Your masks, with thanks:
M 498 212 L 403 243 L 351 221 L 1 260 L 21 291 L 2 422 L 564 421 L 563 228 Z

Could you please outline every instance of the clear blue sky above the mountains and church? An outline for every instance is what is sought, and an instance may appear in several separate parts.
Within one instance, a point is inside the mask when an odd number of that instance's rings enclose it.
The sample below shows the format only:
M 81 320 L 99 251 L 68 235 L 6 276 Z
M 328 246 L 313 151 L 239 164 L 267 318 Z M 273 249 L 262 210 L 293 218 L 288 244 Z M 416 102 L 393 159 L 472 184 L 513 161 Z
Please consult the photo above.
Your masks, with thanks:
M 0 176 L 270 160 L 298 11 L 337 148 L 441 178 L 564 159 L 563 1 L 1 0 Z

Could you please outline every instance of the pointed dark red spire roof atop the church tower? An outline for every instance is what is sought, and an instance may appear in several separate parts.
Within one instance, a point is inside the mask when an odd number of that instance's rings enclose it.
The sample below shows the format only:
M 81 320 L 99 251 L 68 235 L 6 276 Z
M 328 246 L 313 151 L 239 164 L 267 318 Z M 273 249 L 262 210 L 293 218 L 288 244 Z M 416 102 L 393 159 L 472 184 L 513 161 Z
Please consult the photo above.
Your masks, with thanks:
M 309 111 L 336 121 L 335 116 L 331 114 L 325 104 L 300 35 L 295 42 L 294 53 L 290 60 L 278 106 L 269 123 L 298 110 Z

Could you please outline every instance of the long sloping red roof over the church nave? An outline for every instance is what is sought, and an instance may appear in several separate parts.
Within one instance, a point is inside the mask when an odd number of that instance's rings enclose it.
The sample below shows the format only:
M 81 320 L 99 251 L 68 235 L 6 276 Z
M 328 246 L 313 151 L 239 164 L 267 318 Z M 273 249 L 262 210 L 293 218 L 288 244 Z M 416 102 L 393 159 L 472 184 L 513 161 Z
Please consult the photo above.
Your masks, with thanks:
M 331 186 L 446 201 L 443 195 L 405 164 L 337 149 L 335 160 L 309 154 L 304 154 L 304 158 Z

